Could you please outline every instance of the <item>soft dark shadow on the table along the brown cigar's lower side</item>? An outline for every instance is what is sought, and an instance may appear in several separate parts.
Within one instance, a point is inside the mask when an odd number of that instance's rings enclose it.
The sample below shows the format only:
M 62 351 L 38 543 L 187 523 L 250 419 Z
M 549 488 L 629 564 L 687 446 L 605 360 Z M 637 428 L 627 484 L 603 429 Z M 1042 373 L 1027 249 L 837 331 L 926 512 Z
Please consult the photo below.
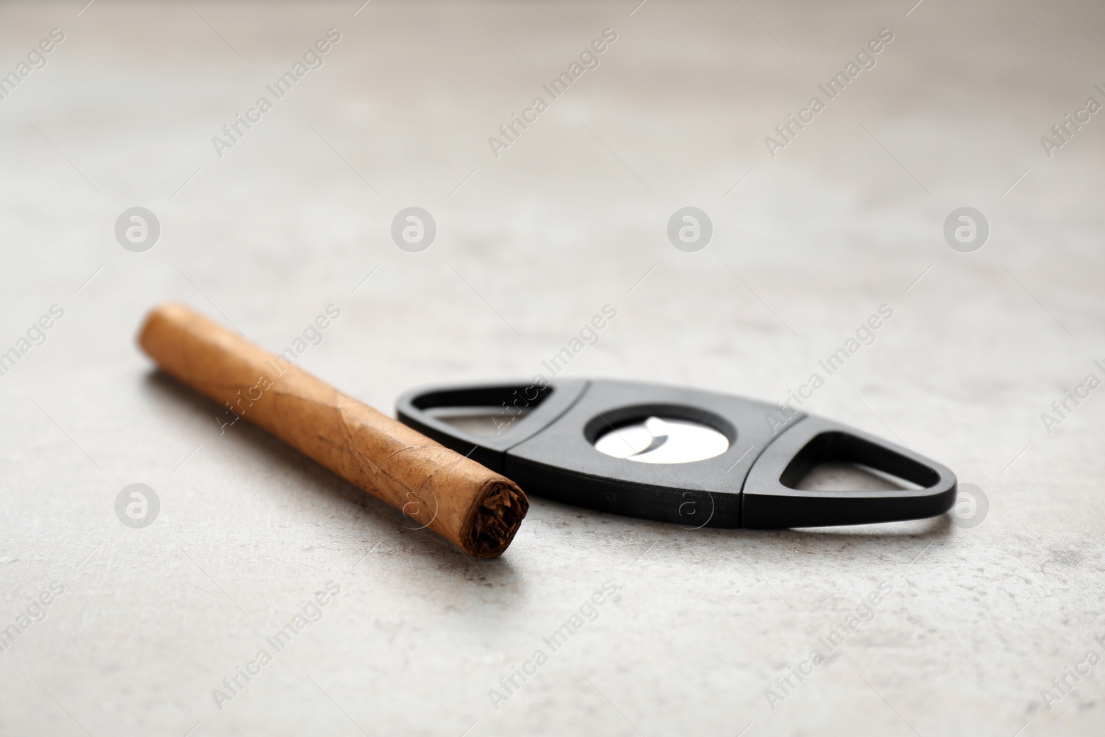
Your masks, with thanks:
M 304 494 L 320 494 L 347 504 L 350 516 L 355 519 L 362 517 L 376 528 L 365 540 L 365 558 L 396 552 L 417 556 L 428 559 L 429 570 L 456 573 L 484 586 L 491 586 L 484 580 L 484 572 L 496 577 L 514 575 L 514 567 L 508 560 L 495 558 L 473 561 L 449 540 L 423 529 L 418 522 L 354 486 L 244 418 L 223 425 L 222 423 L 233 420 L 225 407 L 220 407 L 165 371 L 150 370 L 144 379 L 144 388 L 169 411 L 187 408 L 192 418 L 202 418 L 202 422 L 209 422 L 212 440 L 206 442 L 234 444 L 243 453 L 255 454 L 253 459 L 246 459 L 246 462 L 262 463 L 298 482 L 291 485 L 293 488 L 302 488 Z M 347 569 L 364 566 L 365 558 L 348 561 Z

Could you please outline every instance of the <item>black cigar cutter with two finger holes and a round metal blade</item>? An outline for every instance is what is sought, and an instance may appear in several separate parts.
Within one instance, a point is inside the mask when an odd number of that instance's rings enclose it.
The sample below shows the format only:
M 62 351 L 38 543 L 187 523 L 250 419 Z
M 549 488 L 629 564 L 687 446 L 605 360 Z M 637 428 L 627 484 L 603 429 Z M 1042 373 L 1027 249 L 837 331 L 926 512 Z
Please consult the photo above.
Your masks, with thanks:
M 691 527 L 919 519 L 950 509 L 957 494 L 949 468 L 906 448 L 711 391 L 557 379 L 417 389 L 397 410 L 407 425 L 528 494 Z M 859 464 L 915 488 L 796 488 L 821 463 Z

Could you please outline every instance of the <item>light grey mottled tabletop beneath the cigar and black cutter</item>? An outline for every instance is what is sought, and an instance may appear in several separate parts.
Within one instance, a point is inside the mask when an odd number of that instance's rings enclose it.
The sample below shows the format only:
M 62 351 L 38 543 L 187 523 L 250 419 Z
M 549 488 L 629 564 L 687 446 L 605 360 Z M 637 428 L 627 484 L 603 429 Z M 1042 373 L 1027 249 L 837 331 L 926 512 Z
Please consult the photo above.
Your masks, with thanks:
M 1105 103 L 1101 4 L 83 4 L 0 7 L 0 733 L 1105 731 L 1105 389 L 1041 419 L 1105 378 L 1105 114 L 1051 133 Z M 116 239 L 133 207 L 159 223 L 145 252 Z M 392 242 L 407 207 L 428 250 Z M 669 242 L 683 207 L 713 222 L 701 251 Z M 980 250 L 945 240 L 961 207 Z M 529 377 L 608 304 L 562 376 L 783 399 L 887 305 L 803 409 L 946 463 L 989 509 L 765 533 L 534 498 L 477 566 L 255 429 L 220 433 L 134 345 L 164 299 L 272 350 L 335 305 L 299 362 L 385 411 Z M 133 483 L 159 499 L 144 528 L 115 510 Z

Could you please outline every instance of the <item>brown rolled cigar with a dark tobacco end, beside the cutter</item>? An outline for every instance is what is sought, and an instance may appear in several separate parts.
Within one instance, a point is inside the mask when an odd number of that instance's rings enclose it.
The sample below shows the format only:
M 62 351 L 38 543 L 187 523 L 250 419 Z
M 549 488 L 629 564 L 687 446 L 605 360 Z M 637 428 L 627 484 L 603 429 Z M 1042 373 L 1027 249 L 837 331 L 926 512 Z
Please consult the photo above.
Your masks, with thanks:
M 150 310 L 138 345 L 167 373 L 471 556 L 501 555 L 526 516 L 529 501 L 509 478 L 183 305 Z

